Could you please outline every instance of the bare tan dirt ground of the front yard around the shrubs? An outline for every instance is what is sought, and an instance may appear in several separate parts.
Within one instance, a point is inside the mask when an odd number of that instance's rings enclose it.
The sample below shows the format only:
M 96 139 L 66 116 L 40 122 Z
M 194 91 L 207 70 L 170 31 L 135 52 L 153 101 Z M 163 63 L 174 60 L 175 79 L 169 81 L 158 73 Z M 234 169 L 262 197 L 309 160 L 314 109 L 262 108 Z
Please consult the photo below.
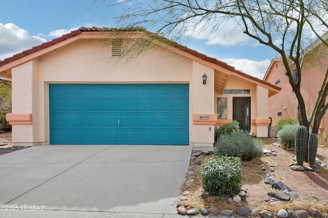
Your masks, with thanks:
M 320 173 L 305 170 L 292 170 L 289 165 L 295 163 L 293 160 L 295 150 L 286 150 L 281 144 L 279 144 L 279 146 L 272 145 L 272 143 L 277 141 L 277 139 L 263 139 L 263 147 L 270 151 L 275 151 L 277 154 L 276 156 L 263 155 L 261 158 L 256 158 L 249 162 L 242 162 L 246 165 L 241 167 L 242 185 L 246 187 L 248 191 L 247 197 L 244 198 L 241 203 L 250 209 L 266 209 L 274 213 L 281 208 L 296 210 L 315 207 L 321 211 L 323 217 L 328 217 L 328 170 L 322 167 L 318 167 Z M 198 176 L 194 184 L 188 189 L 190 194 L 188 195 L 186 204 L 196 208 L 210 208 L 211 206 L 215 206 L 219 211 L 222 209 L 234 210 L 238 207 L 238 204 L 228 204 L 227 198 L 210 197 L 202 199 L 200 197 L 202 192 L 200 180 L 202 166 L 195 164 L 195 162 L 208 157 L 209 156 L 198 156 L 196 160 L 191 161 L 194 163 L 194 171 Z M 317 158 L 319 158 L 322 163 L 328 164 L 327 145 L 318 146 Z M 261 170 L 263 166 L 266 168 L 264 171 Z M 309 166 L 309 164 L 304 162 L 304 166 Z M 274 207 L 269 206 L 269 203 L 265 202 L 264 199 L 268 197 L 268 192 L 273 191 L 273 189 L 271 185 L 264 184 L 263 182 L 267 176 L 272 176 L 281 181 L 293 191 L 297 192 L 303 200 L 292 198 L 292 202 L 282 202 L 280 205 Z M 185 188 L 182 188 L 182 191 L 184 190 Z M 318 208 L 317 204 L 319 203 L 324 206 Z

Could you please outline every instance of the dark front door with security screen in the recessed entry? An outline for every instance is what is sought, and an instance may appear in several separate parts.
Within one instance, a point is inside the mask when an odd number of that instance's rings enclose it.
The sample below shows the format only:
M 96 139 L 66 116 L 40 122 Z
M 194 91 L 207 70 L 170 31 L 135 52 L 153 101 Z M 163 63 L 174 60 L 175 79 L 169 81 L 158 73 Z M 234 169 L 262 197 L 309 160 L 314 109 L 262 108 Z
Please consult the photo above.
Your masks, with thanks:
M 251 97 L 233 97 L 232 118 L 239 122 L 239 127 L 251 130 Z

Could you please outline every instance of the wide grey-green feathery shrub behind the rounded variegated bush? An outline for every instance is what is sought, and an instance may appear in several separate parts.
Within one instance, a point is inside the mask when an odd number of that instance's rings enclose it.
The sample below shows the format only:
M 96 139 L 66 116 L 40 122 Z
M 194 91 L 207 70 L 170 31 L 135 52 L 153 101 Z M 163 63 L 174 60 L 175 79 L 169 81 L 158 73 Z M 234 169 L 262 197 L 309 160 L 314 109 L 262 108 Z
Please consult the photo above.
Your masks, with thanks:
M 249 161 L 263 155 L 263 143 L 262 140 L 250 136 L 249 132 L 240 130 L 221 136 L 214 152 L 217 156 L 234 156 Z

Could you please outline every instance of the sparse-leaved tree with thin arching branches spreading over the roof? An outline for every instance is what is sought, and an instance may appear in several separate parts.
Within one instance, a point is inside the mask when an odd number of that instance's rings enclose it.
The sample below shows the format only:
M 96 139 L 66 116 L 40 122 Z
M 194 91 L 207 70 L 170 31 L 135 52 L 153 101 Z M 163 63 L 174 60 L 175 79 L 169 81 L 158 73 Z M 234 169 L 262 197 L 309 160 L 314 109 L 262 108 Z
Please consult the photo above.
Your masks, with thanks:
M 328 108 L 328 71 L 310 121 L 300 86 L 305 56 L 318 55 L 312 54 L 314 45 L 328 47 L 326 0 L 118 0 L 114 4 L 112 0 L 99 0 L 94 4 L 120 11 L 113 16 L 119 27 L 144 26 L 156 36 L 172 40 L 229 28 L 227 38 L 243 34 L 271 47 L 282 57 L 285 75 L 298 100 L 300 125 L 309 130 L 313 122 L 312 133 L 318 134 Z M 115 10 L 116 7 L 123 10 Z

